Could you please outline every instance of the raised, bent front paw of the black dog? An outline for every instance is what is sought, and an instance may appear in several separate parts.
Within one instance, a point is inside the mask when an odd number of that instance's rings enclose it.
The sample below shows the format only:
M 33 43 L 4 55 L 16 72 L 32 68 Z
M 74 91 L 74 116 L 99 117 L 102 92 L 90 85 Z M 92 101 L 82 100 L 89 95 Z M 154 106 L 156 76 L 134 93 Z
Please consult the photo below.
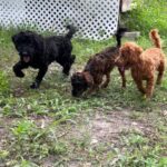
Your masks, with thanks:
M 24 65 L 23 62 L 19 61 L 13 66 L 13 71 L 16 73 L 17 77 L 24 77 L 24 73 L 21 71 L 22 69 L 28 68 L 27 65 Z

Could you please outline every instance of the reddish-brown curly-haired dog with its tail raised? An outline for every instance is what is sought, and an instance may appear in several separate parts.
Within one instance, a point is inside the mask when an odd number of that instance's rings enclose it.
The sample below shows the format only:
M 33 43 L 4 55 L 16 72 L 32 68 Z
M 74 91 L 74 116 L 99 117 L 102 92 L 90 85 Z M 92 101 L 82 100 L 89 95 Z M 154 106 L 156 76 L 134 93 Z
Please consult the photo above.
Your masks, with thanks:
M 144 51 L 136 43 L 126 42 L 120 48 L 120 59 L 118 60 L 121 66 L 128 66 L 131 69 L 134 81 L 147 98 L 153 96 L 155 71 L 158 71 L 157 85 L 160 85 L 165 70 L 165 55 L 161 50 L 158 30 L 151 30 L 149 37 L 155 45 L 154 48 Z M 143 85 L 144 80 L 146 80 L 146 88 Z

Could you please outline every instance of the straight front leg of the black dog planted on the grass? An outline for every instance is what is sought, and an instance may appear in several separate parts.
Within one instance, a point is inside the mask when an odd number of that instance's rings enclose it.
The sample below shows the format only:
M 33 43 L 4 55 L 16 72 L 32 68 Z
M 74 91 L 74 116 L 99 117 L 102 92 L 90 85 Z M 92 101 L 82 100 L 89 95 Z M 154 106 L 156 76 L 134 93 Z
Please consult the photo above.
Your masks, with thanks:
M 39 88 L 40 82 L 42 81 L 42 78 L 45 77 L 47 70 L 48 70 L 48 66 L 45 66 L 45 67 L 39 69 L 39 72 L 38 72 L 38 75 L 36 77 L 36 80 L 35 80 L 35 82 L 32 82 L 30 88 L 32 88 L 32 89 Z

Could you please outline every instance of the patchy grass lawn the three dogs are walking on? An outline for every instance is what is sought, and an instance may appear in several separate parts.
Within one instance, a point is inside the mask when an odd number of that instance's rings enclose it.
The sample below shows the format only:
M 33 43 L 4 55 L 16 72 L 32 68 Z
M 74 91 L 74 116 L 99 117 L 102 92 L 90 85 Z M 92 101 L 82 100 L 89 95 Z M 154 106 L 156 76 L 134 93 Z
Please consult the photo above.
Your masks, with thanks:
M 122 90 L 117 69 L 108 88 L 72 98 L 70 78 L 57 63 L 50 66 L 40 89 L 31 90 L 37 70 L 24 70 L 23 79 L 14 77 L 12 66 L 18 55 L 11 35 L 0 30 L 0 166 L 167 166 L 166 73 L 151 100 L 138 92 L 129 71 L 127 89 Z M 95 52 L 115 43 L 112 39 L 72 42 L 77 60 L 71 72 L 81 70 Z M 151 46 L 147 36 L 137 42 L 144 48 Z

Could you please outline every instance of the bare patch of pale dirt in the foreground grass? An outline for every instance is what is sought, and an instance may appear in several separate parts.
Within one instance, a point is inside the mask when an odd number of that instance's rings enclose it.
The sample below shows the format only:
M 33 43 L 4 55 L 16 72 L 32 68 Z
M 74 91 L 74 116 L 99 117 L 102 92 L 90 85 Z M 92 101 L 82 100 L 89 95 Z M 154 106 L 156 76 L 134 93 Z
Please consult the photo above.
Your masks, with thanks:
M 121 134 L 137 132 L 156 139 L 156 131 L 149 120 L 130 118 L 130 110 L 110 111 L 105 114 L 96 111 L 90 118 L 84 116 L 78 119 L 77 126 L 70 125 L 66 139 L 81 139 L 86 135 L 90 137 L 91 145 L 100 143 L 119 144 Z M 66 129 L 66 128 L 65 128 Z M 62 129 L 62 131 L 65 130 Z

